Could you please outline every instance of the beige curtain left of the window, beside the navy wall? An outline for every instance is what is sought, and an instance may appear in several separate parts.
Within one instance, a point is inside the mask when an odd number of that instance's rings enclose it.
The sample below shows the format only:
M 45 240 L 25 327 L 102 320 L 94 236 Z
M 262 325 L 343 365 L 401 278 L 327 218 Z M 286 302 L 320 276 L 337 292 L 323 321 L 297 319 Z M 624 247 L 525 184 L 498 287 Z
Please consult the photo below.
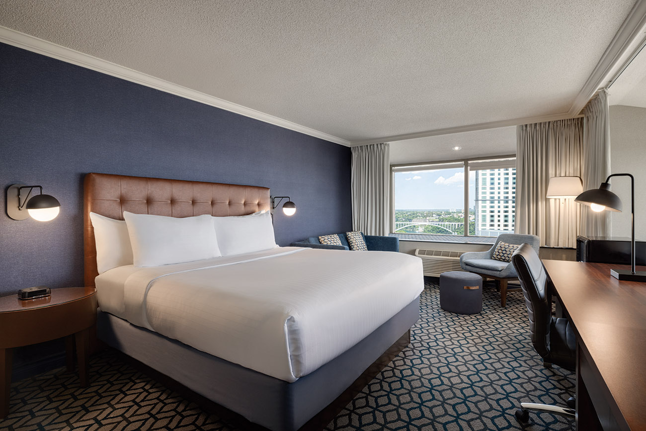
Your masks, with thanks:
M 390 145 L 352 147 L 352 224 L 365 235 L 390 233 Z

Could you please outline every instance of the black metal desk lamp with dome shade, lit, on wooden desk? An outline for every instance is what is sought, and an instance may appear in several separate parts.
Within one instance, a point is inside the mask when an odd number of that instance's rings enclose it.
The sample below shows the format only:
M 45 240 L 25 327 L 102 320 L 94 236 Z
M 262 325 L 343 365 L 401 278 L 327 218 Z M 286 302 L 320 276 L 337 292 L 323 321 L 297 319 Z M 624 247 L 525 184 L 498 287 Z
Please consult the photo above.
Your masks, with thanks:
M 621 213 L 621 199 L 610 191 L 610 178 L 613 176 L 630 177 L 630 264 L 628 269 L 610 269 L 610 275 L 618 280 L 646 282 L 646 271 L 635 271 L 635 179 L 631 174 L 612 174 L 598 189 L 584 191 L 576 197 L 574 202 L 589 205 L 596 213 L 603 210 Z

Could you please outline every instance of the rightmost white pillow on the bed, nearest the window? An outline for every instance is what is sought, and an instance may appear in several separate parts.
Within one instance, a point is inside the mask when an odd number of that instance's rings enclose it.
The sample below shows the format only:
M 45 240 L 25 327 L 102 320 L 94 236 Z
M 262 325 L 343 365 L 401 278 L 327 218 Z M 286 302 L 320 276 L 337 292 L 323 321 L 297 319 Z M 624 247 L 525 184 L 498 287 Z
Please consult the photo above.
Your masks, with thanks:
M 267 250 L 276 246 L 269 212 L 247 216 L 213 217 L 222 256 Z

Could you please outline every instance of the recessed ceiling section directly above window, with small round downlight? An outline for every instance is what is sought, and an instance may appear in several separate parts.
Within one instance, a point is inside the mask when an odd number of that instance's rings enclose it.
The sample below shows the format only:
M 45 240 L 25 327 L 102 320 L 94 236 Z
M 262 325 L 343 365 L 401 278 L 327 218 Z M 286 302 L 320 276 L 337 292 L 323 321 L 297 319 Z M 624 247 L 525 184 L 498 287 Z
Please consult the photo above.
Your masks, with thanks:
M 454 151 L 453 147 L 462 147 Z M 390 143 L 390 163 L 516 154 L 516 127 L 429 136 Z

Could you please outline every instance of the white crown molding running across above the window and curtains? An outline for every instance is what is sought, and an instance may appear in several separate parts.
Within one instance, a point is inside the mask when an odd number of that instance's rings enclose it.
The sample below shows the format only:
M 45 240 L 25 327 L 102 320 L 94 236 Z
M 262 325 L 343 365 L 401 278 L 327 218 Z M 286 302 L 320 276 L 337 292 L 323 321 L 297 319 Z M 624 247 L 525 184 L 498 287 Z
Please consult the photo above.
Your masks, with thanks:
M 446 127 L 445 129 L 434 129 L 430 131 L 397 134 L 393 136 L 384 136 L 383 138 L 366 139 L 362 141 L 353 141 L 350 143 L 352 147 L 356 145 L 368 145 L 370 143 L 380 142 L 397 142 L 408 139 L 428 138 L 428 136 L 439 136 L 443 134 L 453 134 L 462 132 L 474 132 L 486 129 L 498 129 L 499 127 L 517 126 L 529 123 L 542 123 L 543 121 L 565 120 L 566 118 L 579 118 L 581 115 L 570 115 L 568 112 L 561 112 L 560 114 L 549 114 L 534 117 L 514 118 L 512 120 L 491 121 L 489 123 L 467 124 L 456 127 Z

